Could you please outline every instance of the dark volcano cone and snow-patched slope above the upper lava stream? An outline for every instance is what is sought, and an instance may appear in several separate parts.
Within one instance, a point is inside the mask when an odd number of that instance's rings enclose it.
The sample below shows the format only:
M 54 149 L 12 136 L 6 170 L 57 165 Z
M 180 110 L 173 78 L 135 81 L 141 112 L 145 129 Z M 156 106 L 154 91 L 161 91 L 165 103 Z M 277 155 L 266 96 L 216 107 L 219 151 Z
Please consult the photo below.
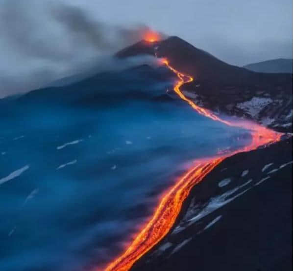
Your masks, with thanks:
M 194 81 L 185 84 L 184 91 L 195 103 L 281 131 L 292 130 L 292 74 L 259 73 L 230 65 L 178 37 L 143 40 L 119 51 L 116 57 L 141 54 L 167 58 L 175 69 L 191 75 Z

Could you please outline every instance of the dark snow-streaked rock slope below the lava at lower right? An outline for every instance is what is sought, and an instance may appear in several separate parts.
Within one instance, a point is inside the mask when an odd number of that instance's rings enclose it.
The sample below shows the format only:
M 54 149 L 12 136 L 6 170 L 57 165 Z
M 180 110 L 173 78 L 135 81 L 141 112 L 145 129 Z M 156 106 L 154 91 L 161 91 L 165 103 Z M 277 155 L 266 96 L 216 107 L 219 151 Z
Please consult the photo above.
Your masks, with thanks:
M 292 270 L 292 149 L 290 138 L 223 161 L 132 270 Z

